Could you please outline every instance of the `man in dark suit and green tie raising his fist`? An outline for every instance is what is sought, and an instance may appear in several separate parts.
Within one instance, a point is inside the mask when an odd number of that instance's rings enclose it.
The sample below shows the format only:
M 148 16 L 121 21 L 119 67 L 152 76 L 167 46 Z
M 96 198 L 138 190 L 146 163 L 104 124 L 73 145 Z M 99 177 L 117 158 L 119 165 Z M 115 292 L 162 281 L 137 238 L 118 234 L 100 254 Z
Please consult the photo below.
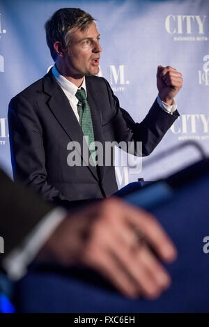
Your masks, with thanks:
M 93 17 L 64 8 L 45 27 L 55 65 L 9 105 L 14 177 L 56 203 L 108 197 L 117 190 L 114 162 L 111 158 L 110 165 L 99 164 L 94 142 L 102 144 L 99 157 L 105 159 L 107 142 L 133 142 L 133 153 L 141 142 L 137 154 L 150 154 L 178 117 L 173 98 L 182 76 L 174 68 L 159 66 L 159 96 L 144 121 L 134 123 L 108 82 L 95 77 L 102 49 Z M 72 144 L 80 159 L 77 165 L 68 160 Z M 81 149 L 87 149 L 87 160 Z

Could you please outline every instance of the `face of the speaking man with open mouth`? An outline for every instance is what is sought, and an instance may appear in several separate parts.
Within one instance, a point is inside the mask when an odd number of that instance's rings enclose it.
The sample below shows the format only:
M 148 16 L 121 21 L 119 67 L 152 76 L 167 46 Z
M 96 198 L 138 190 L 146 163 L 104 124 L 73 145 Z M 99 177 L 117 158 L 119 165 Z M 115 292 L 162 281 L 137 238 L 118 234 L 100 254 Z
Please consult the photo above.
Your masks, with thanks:
M 88 29 L 70 31 L 68 53 L 64 56 L 66 72 L 73 76 L 89 76 L 99 73 L 100 34 L 93 22 Z

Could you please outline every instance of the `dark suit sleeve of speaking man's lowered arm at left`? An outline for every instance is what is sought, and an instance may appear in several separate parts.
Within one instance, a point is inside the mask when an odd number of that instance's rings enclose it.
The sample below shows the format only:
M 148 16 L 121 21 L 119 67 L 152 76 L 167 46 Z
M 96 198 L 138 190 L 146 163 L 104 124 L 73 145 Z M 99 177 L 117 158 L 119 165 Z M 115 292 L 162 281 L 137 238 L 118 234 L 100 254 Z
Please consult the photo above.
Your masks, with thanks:
M 41 121 L 36 115 L 36 108 L 24 96 L 18 95 L 10 101 L 8 126 L 15 181 L 20 180 L 31 185 L 44 195 L 46 201 L 68 206 L 68 199 L 47 183 Z

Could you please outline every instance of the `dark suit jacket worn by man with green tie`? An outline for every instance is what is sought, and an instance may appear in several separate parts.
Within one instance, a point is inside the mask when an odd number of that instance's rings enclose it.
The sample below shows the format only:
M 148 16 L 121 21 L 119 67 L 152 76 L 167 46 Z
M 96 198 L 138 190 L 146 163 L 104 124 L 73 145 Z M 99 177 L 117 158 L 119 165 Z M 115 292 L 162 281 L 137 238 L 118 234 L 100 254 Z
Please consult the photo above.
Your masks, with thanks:
M 134 123 L 104 78 L 86 77 L 86 90 L 95 140 L 102 144 L 141 141 L 143 155 L 148 155 L 178 117 L 178 112 L 167 114 L 155 101 L 144 121 Z M 14 178 L 31 185 L 45 200 L 102 198 L 118 190 L 114 165 L 68 166 L 68 142 L 82 145 L 83 133 L 52 70 L 10 101 L 8 123 Z

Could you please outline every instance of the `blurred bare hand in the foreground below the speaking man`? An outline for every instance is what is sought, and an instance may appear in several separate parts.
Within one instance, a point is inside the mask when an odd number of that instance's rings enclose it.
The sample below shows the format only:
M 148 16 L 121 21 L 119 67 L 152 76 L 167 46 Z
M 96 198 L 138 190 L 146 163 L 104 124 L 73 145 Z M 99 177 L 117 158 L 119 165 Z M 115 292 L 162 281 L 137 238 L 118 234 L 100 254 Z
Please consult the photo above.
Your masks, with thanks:
M 111 198 L 65 218 L 39 258 L 93 268 L 125 296 L 157 298 L 171 284 L 158 258 L 173 261 L 176 248 L 150 213 Z

